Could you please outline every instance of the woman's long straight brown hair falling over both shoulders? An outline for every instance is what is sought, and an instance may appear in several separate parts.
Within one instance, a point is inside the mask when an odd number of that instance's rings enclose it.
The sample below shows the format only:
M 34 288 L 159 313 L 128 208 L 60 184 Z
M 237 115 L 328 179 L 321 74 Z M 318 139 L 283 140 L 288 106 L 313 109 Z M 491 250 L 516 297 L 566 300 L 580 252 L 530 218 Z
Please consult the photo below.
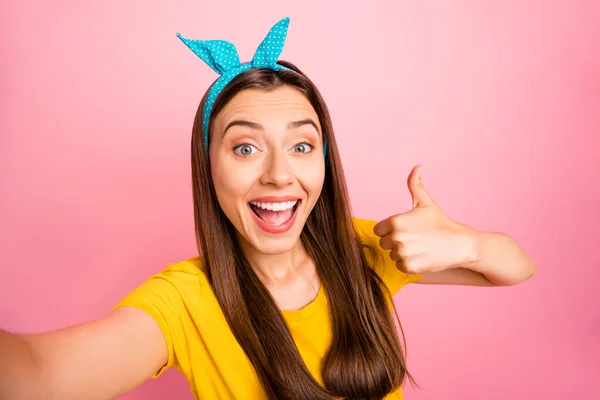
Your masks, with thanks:
M 304 364 L 275 301 L 238 250 L 235 228 L 219 206 L 202 124 L 206 94 L 196 113 L 191 149 L 198 250 L 229 327 L 269 399 L 381 399 L 410 378 L 391 315 L 391 295 L 369 267 L 355 231 L 325 102 L 297 67 L 279 64 L 296 72 L 251 69 L 232 80 L 215 101 L 209 131 L 227 102 L 249 88 L 294 87 L 319 116 L 328 148 L 325 182 L 300 239 L 328 296 L 333 341 L 322 362 L 325 387 Z

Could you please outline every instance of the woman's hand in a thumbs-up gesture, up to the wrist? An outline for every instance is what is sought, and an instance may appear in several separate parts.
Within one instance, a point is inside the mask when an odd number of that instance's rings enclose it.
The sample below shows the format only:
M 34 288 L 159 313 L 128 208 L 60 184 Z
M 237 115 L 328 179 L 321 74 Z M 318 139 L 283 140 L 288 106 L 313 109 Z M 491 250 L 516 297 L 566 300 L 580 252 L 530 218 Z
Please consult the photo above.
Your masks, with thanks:
M 396 266 L 409 274 L 438 272 L 470 262 L 475 254 L 475 230 L 452 221 L 429 196 L 417 165 L 408 176 L 413 206 L 375 225 L 380 245 L 390 250 Z

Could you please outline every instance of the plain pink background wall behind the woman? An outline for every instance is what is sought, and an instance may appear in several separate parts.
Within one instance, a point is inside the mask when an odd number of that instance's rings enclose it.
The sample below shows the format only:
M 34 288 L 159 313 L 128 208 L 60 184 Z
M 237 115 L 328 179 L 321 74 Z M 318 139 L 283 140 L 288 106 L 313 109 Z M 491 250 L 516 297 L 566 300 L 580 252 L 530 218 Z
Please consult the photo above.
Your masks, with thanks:
M 596 1 L 12 1 L 0 5 L 0 327 L 98 318 L 195 255 L 189 142 L 216 75 L 175 33 L 283 59 L 331 108 L 356 215 L 504 231 L 538 275 L 397 297 L 406 398 L 591 399 L 600 376 Z M 596 394 L 597 395 L 597 394 Z M 123 399 L 191 399 L 176 371 Z

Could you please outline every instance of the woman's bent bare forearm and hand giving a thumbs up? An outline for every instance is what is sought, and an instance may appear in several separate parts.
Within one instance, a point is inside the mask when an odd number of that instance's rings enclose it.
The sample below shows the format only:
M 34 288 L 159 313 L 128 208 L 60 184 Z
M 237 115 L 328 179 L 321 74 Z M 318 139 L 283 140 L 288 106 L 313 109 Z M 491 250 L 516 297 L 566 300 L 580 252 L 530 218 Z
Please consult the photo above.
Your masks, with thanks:
M 535 265 L 510 236 L 479 232 L 451 220 L 429 196 L 421 166 L 408 177 L 410 211 L 380 221 L 373 231 L 402 272 L 418 283 L 508 286 L 535 274 Z

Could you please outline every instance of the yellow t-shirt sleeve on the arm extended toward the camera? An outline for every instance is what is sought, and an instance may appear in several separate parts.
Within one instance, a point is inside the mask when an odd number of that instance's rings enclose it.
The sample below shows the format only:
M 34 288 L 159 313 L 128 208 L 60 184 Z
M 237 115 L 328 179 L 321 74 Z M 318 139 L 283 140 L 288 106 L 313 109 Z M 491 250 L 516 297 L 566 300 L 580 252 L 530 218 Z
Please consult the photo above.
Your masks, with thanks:
M 178 367 L 178 354 L 185 351 L 185 332 L 193 323 L 193 308 L 188 307 L 186 286 L 194 279 L 181 264 L 169 265 L 162 272 L 131 291 L 113 310 L 134 307 L 148 313 L 160 327 L 168 349 L 165 365 L 152 378 L 157 378 L 170 367 Z M 187 297 L 187 299 L 186 299 Z

